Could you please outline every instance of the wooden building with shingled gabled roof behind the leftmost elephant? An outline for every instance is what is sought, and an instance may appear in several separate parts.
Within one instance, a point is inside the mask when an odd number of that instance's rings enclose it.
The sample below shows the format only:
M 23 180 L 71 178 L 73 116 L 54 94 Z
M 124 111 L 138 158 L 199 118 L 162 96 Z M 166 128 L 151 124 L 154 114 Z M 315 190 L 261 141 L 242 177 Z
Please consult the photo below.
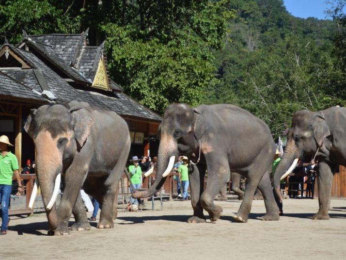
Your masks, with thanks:
M 110 79 L 104 43 L 89 46 L 80 34 L 27 35 L 17 46 L 0 47 L 0 135 L 15 144 L 21 166 L 34 159 L 34 146 L 23 125 L 32 108 L 50 102 L 86 101 L 112 110 L 127 122 L 132 155 L 157 154 L 162 118 L 128 97 Z

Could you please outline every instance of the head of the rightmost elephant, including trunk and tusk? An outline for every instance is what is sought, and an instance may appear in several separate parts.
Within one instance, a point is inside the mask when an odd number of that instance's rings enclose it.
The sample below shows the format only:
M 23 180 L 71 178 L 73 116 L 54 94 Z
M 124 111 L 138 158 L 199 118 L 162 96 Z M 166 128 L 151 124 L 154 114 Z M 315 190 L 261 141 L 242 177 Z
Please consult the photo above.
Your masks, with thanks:
M 297 111 L 287 133 L 287 146 L 274 175 L 274 188 L 280 198 L 280 179 L 285 178 L 303 156 L 330 149 L 330 129 L 323 112 Z

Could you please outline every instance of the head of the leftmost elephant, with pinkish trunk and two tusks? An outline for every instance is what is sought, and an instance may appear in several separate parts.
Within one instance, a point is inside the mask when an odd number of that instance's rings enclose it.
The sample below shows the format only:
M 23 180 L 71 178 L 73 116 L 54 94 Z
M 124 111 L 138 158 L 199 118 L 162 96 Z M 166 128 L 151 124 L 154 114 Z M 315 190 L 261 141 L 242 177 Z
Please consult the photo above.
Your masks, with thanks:
M 32 208 L 41 187 L 50 229 L 57 227 L 55 201 L 60 188 L 60 178 L 71 164 L 75 154 L 85 144 L 93 121 L 86 111 L 89 105 L 71 101 L 68 104 L 43 105 L 31 110 L 24 129 L 35 144 L 36 174 Z

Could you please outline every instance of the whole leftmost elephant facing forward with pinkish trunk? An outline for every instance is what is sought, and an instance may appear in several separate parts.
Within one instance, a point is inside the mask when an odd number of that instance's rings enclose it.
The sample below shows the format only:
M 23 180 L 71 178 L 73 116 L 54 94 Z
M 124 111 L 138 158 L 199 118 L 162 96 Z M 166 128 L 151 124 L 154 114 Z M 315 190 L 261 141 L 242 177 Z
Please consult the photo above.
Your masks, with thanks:
M 71 230 L 90 229 L 81 187 L 100 202 L 97 227 L 113 227 L 117 215 L 114 197 L 131 142 L 125 120 L 114 112 L 71 101 L 32 110 L 24 128 L 35 144 L 36 172 L 45 206 L 56 176 L 62 173 L 64 190 L 60 205 L 46 211 L 48 234 L 69 234 L 71 213 L 76 219 Z

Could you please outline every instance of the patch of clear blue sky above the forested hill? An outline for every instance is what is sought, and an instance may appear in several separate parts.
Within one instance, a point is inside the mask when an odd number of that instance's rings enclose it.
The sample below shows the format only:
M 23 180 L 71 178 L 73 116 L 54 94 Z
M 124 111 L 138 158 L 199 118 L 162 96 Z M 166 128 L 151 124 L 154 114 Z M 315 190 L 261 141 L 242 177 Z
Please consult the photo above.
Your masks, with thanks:
M 324 11 L 330 8 L 325 0 L 283 0 L 288 12 L 293 16 L 307 18 L 316 17 L 318 19 L 330 19 L 326 17 Z

